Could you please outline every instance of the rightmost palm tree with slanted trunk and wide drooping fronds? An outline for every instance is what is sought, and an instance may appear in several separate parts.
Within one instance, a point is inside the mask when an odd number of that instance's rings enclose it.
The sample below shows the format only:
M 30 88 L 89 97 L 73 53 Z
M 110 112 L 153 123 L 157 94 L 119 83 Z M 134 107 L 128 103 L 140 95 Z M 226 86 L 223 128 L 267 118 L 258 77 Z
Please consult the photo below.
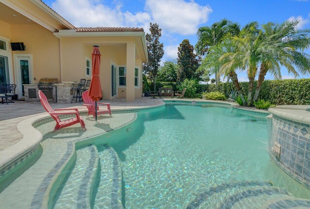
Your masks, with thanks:
M 310 55 L 303 52 L 310 46 L 310 29 L 296 30 L 297 24 L 298 21 L 285 21 L 280 25 L 269 22 L 262 26 L 265 40 L 254 101 L 258 98 L 268 71 L 276 79 L 281 78 L 280 65 L 295 77 L 299 76 L 295 66 L 303 75 L 310 73 Z

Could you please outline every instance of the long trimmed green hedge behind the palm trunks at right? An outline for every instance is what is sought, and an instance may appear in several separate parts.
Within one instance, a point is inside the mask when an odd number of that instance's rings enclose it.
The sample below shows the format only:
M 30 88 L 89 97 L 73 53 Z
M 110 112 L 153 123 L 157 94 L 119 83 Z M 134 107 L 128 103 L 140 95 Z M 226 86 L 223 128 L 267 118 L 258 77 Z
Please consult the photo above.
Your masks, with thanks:
M 200 86 L 200 92 L 217 91 L 215 84 L 200 84 Z M 240 86 L 242 93 L 248 95 L 248 82 L 240 82 Z M 229 95 L 231 90 L 235 91 L 232 82 L 219 83 L 218 88 L 219 92 L 225 95 Z M 255 88 L 256 82 L 253 96 Z M 258 97 L 269 100 L 275 105 L 310 105 L 310 79 L 265 80 Z

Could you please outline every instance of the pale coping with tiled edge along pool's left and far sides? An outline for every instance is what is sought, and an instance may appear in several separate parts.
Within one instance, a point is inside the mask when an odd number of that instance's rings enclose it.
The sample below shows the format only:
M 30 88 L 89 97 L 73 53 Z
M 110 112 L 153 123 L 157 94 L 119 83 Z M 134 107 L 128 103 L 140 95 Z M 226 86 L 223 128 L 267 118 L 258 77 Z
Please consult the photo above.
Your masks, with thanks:
M 259 113 L 263 115 L 268 115 L 267 111 L 259 111 L 259 110 L 248 110 L 237 107 L 238 104 L 235 102 L 228 101 L 218 101 L 218 100 L 205 100 L 205 99 L 167 99 L 164 98 L 160 104 L 147 106 L 147 107 L 128 107 L 128 108 L 114 108 L 111 109 L 112 113 L 134 113 L 145 110 L 155 109 L 157 107 L 165 105 L 167 102 L 165 101 L 175 101 L 178 103 L 192 103 L 195 102 L 197 104 L 207 103 L 207 104 L 218 104 L 218 105 L 229 105 L 232 108 L 243 111 L 243 112 L 251 112 L 251 113 Z M 81 115 L 87 115 L 87 110 L 79 110 Z M 43 136 L 42 134 L 35 129 L 35 126 L 45 123 L 47 121 L 52 121 L 53 119 L 50 117 L 48 113 L 42 113 L 39 115 L 33 115 L 31 118 L 27 118 L 16 125 L 16 129 L 23 135 L 22 139 L 17 142 L 15 145 L 12 145 L 4 150 L 0 151 L 0 177 L 3 177 L 6 173 L 10 172 L 13 168 L 15 168 L 21 162 L 27 160 L 32 153 L 37 149 L 39 144 L 41 143 Z M 25 158 L 22 158 L 26 156 Z M 18 161 L 22 158 L 22 161 Z

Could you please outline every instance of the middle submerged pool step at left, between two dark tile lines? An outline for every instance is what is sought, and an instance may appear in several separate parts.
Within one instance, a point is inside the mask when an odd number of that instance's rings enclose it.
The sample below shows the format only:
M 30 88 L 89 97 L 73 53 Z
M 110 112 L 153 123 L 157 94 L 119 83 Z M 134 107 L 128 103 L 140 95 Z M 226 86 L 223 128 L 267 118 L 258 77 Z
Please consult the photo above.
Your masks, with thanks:
M 77 150 L 76 154 L 76 164 L 62 188 L 55 209 L 91 208 L 93 179 L 99 166 L 98 151 L 96 146 L 89 145 Z

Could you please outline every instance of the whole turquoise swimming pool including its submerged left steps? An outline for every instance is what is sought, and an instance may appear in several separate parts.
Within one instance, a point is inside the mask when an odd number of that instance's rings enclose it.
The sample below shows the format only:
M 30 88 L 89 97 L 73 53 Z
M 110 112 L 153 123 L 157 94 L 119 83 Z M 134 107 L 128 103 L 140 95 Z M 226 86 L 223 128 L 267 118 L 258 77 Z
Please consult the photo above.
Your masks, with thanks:
M 86 194 L 93 208 L 254 209 L 289 195 L 310 198 L 270 159 L 263 115 L 224 105 L 167 103 L 128 121 L 133 122 L 75 142 L 74 162 L 62 172 L 64 183 L 49 195 L 49 206 L 83 206 L 79 197 Z M 46 134 L 43 150 L 56 140 Z M 59 152 L 68 152 L 65 143 Z

